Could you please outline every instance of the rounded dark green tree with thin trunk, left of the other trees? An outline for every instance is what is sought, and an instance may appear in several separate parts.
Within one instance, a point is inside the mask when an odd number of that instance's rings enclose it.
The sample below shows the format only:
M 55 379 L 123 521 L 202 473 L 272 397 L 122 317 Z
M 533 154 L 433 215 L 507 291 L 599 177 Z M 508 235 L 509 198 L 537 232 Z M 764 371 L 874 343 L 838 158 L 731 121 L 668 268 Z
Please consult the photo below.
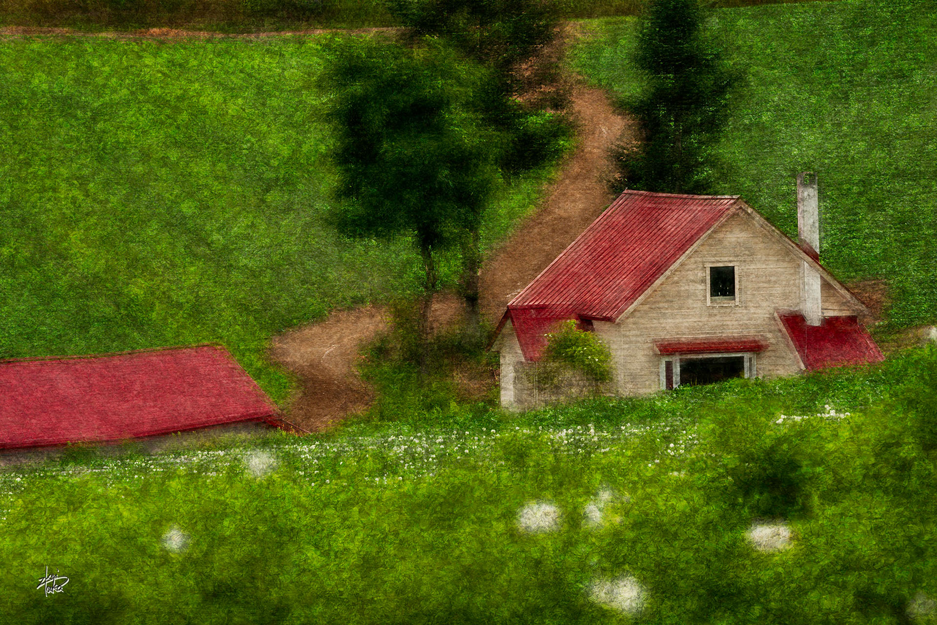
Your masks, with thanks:
M 498 176 L 490 133 L 468 105 L 481 80 L 439 46 L 408 50 L 366 39 L 337 44 L 323 72 L 334 94 L 327 113 L 335 128 L 332 221 L 345 235 L 409 237 L 419 250 L 424 372 L 436 255 L 477 230 Z

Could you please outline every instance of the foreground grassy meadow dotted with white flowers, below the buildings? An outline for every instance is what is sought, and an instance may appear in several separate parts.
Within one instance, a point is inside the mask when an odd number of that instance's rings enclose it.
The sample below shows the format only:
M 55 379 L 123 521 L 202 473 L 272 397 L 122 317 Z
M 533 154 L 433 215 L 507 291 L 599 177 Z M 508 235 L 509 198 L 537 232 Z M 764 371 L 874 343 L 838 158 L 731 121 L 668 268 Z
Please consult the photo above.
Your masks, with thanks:
M 4 472 L 0 623 L 932 623 L 935 389 L 931 348 Z

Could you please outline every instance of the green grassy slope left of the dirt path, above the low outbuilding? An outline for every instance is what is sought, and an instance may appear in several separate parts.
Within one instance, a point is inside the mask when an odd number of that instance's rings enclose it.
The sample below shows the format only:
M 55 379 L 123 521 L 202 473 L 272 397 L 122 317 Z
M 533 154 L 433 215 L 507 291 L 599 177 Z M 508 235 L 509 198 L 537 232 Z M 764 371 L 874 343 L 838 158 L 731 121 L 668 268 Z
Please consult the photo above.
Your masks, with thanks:
M 320 223 L 329 41 L 0 44 L 0 358 L 220 341 L 282 398 L 269 336 L 418 289 L 406 241 Z M 485 245 L 543 180 L 499 190 Z

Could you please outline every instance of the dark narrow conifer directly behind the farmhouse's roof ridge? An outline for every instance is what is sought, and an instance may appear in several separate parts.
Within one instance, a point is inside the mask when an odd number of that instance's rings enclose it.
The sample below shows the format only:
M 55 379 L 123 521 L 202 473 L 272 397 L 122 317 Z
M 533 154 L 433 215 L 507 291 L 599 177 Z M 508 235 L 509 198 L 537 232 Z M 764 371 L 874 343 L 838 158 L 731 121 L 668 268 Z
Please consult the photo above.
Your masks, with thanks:
M 706 31 L 706 11 L 699 0 L 652 0 L 641 18 L 633 62 L 645 88 L 625 103 L 641 141 L 614 151 L 617 192 L 712 190 L 715 149 L 738 76 Z

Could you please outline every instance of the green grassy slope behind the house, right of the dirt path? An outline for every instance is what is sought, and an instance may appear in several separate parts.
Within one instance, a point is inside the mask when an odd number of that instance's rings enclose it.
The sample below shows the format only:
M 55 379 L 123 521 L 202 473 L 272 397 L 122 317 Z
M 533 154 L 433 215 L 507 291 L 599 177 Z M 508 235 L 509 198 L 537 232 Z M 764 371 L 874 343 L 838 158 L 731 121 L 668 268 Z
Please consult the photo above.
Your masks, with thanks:
M 797 171 L 820 181 L 821 260 L 886 277 L 897 326 L 937 320 L 937 15 L 932 3 L 846 0 L 716 11 L 747 81 L 721 144 L 721 193 L 796 235 Z M 634 21 L 590 22 L 575 65 L 620 96 L 640 88 Z

